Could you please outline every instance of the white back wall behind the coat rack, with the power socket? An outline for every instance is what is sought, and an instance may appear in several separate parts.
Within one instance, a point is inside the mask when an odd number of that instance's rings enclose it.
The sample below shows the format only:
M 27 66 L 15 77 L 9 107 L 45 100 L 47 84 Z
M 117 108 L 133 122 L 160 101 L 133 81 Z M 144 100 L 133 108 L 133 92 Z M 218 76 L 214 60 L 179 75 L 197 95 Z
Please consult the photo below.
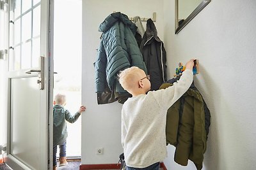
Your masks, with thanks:
M 122 104 L 97 104 L 94 67 L 100 44 L 99 25 L 113 11 L 128 17 L 153 17 L 157 13 L 156 27 L 163 39 L 163 1 L 141 0 L 86 0 L 83 1 L 83 81 L 82 103 L 87 106 L 82 115 L 82 164 L 115 164 L 122 153 L 121 108 Z M 145 23 L 146 24 L 146 23 Z M 96 155 L 95 148 L 104 148 L 103 155 Z

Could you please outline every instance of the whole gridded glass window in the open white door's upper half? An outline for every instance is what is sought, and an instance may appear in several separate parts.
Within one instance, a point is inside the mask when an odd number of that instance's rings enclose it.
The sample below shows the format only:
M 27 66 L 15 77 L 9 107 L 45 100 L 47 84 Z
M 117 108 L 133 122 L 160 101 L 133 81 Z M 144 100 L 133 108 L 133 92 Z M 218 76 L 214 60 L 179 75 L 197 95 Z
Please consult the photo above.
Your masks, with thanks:
M 15 9 L 14 14 L 10 15 L 10 20 L 14 21 L 15 24 L 13 24 L 13 30 L 10 26 L 10 46 L 14 46 L 15 50 L 9 55 L 9 70 L 38 68 L 40 58 L 40 0 L 13 1 L 15 1 Z M 20 12 L 21 8 L 22 12 Z

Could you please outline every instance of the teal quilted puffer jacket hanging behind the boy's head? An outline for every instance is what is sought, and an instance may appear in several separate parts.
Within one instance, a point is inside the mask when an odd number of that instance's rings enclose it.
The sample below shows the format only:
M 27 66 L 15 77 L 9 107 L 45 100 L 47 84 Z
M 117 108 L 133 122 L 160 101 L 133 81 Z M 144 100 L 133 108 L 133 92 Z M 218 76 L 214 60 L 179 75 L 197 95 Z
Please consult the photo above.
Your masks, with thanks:
M 113 89 L 115 92 L 126 92 L 116 78 L 119 71 L 127 67 L 137 66 L 147 73 L 134 37 L 136 30 L 136 25 L 120 12 L 111 13 L 100 24 L 102 36 L 95 62 L 96 92 L 105 92 L 107 85 L 112 92 Z

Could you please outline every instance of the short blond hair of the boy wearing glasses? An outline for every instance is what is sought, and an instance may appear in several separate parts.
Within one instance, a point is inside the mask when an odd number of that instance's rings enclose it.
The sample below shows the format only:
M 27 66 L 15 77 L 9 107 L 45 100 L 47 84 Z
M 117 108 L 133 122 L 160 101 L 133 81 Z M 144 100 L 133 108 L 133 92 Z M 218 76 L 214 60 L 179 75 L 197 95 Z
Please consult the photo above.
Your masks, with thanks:
M 132 90 L 134 88 L 134 85 L 138 85 L 138 72 L 140 71 L 141 69 L 136 66 L 132 66 L 124 69 L 123 71 L 120 71 L 120 73 L 118 74 L 118 81 L 125 90 Z

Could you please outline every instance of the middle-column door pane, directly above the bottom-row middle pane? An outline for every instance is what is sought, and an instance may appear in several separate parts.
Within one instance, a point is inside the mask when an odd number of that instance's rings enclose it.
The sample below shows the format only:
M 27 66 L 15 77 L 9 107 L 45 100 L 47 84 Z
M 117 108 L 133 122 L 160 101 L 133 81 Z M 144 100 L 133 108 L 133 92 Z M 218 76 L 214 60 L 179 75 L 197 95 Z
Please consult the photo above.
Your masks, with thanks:
M 31 11 L 22 17 L 22 43 L 31 39 Z

